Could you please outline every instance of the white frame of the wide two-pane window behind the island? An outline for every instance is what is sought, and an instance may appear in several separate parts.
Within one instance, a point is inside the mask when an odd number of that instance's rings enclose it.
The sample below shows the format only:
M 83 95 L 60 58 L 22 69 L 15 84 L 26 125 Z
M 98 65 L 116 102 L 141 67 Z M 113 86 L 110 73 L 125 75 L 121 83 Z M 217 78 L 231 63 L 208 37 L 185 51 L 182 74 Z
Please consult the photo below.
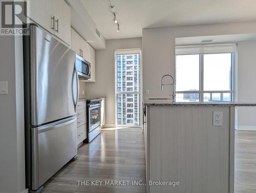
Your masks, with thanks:
M 226 52 L 225 52 L 226 53 Z M 204 91 L 204 54 L 176 54 L 176 56 L 179 55 L 199 55 L 199 91 L 176 91 L 176 94 L 199 94 L 199 102 L 204 102 L 204 93 L 209 93 L 210 96 L 214 93 L 220 93 L 221 94 L 221 100 L 211 100 L 211 102 L 225 102 L 223 100 L 223 94 L 224 93 L 230 93 L 231 95 L 231 101 L 226 101 L 226 102 L 233 102 L 236 101 L 236 94 L 235 94 L 235 88 L 236 88 L 236 52 L 227 52 L 231 54 L 231 90 L 230 91 Z M 209 53 L 211 54 L 211 53 Z M 224 53 L 214 53 L 214 54 L 224 54 Z M 175 59 L 175 74 L 177 73 L 176 69 L 176 59 Z M 175 76 L 175 82 L 176 82 L 176 76 Z M 175 85 L 176 87 L 176 85 Z M 192 101 L 191 101 L 192 102 Z

